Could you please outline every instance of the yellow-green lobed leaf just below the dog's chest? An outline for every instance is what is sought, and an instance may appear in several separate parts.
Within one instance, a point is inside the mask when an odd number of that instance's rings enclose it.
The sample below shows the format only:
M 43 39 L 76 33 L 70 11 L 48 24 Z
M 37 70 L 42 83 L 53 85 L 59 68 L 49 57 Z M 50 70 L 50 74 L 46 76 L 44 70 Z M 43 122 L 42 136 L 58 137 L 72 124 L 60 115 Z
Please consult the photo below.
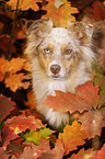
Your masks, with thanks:
M 45 139 L 49 139 L 49 135 L 51 135 L 54 130 L 44 127 L 43 129 L 39 129 L 38 132 L 30 130 L 30 133 L 26 133 L 23 135 L 25 138 L 25 141 L 33 141 L 35 145 L 39 145 L 39 140 L 42 137 Z

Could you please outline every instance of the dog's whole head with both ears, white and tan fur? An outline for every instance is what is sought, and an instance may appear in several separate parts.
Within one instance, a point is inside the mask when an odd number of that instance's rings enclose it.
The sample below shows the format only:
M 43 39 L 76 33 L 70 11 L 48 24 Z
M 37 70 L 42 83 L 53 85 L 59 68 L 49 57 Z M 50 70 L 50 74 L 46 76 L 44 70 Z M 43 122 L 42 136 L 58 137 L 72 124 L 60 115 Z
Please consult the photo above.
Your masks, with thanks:
M 25 53 L 31 59 L 38 58 L 39 67 L 47 77 L 68 78 L 82 60 L 90 63 L 92 57 L 86 52 L 91 35 L 92 27 L 83 23 L 70 23 L 62 29 L 52 27 L 49 20 L 40 20 L 30 27 Z

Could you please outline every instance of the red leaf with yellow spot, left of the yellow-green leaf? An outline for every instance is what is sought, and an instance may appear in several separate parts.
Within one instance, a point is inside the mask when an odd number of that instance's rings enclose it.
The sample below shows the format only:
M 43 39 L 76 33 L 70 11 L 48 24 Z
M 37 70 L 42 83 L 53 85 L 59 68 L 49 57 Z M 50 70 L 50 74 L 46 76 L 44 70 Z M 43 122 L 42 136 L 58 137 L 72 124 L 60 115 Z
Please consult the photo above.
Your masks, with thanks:
M 5 125 L 13 129 L 14 134 L 25 132 L 27 128 L 36 130 L 36 128 L 44 127 L 40 120 L 35 118 L 33 115 L 25 116 L 25 114 L 8 118 Z

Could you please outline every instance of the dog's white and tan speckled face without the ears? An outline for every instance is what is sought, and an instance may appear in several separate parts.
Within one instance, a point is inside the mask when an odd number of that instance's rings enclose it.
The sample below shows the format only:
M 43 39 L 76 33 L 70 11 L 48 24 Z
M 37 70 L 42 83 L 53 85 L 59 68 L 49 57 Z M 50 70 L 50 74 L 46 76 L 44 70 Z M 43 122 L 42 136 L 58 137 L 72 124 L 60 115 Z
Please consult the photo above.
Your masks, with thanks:
M 66 29 L 52 29 L 37 50 L 39 64 L 51 79 L 67 78 L 78 67 L 79 48 Z

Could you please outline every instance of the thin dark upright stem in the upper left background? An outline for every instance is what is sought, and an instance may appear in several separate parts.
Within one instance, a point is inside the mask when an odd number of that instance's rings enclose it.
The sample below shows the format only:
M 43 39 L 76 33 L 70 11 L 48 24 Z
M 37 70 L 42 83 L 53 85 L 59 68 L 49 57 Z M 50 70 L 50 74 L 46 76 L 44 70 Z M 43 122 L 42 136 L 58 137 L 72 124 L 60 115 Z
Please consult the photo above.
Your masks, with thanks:
M 13 38 L 13 32 L 14 32 L 14 26 L 15 26 L 15 22 L 16 22 L 16 18 L 18 18 L 18 8 L 19 8 L 19 2 L 20 0 L 18 0 L 16 2 L 16 10 L 15 10 L 15 15 L 14 15 L 14 21 L 13 21 L 13 26 L 12 26 L 12 30 L 11 30 L 11 35 L 10 35 L 10 41 L 9 41 L 9 44 L 8 44 L 8 49 L 7 49 L 7 53 L 5 53 L 5 58 L 7 59 L 11 59 L 11 56 L 9 56 L 9 53 L 10 53 L 10 46 L 11 46 L 11 42 L 12 42 L 12 38 Z

